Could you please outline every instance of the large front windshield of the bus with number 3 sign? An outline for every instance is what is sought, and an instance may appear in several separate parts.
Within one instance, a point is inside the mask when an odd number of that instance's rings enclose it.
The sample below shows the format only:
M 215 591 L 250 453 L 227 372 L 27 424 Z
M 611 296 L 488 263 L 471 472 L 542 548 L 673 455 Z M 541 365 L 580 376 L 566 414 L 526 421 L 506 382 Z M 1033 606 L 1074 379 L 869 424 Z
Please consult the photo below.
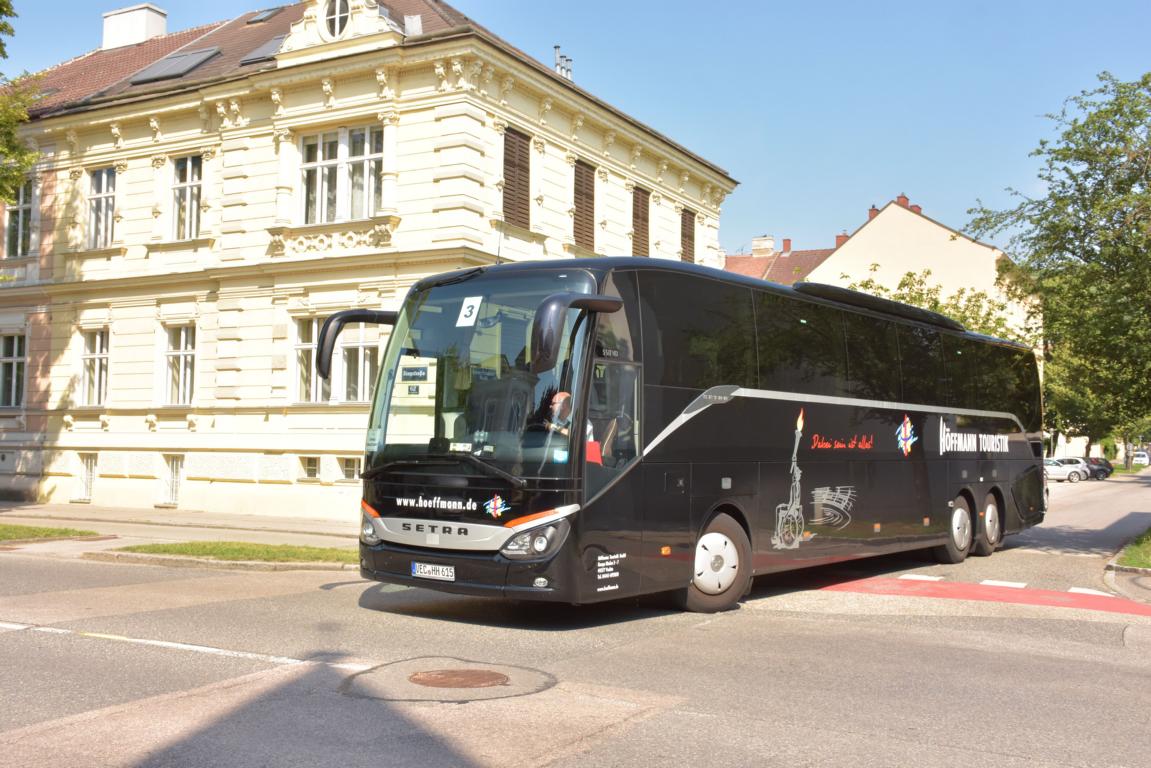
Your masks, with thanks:
M 517 484 L 570 477 L 587 313 L 567 311 L 556 365 L 541 373 L 532 325 L 549 295 L 595 288 L 577 269 L 477 271 L 412 291 L 372 404 L 365 477 L 445 463 Z

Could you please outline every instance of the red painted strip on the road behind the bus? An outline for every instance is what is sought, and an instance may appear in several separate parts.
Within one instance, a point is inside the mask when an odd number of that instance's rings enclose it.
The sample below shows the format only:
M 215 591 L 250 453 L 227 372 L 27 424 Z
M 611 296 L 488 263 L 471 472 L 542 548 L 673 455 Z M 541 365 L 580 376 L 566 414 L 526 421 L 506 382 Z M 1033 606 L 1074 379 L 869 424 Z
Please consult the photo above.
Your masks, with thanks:
M 988 584 L 960 581 L 913 581 L 908 579 L 868 578 L 832 584 L 828 592 L 861 592 L 864 594 L 893 594 L 905 598 L 943 598 L 947 600 L 981 600 L 984 602 L 1013 602 L 1023 606 L 1053 606 L 1080 610 L 1105 610 L 1112 614 L 1151 616 L 1151 606 L 1125 598 L 1096 594 L 1055 592 L 1053 590 L 1019 590 Z

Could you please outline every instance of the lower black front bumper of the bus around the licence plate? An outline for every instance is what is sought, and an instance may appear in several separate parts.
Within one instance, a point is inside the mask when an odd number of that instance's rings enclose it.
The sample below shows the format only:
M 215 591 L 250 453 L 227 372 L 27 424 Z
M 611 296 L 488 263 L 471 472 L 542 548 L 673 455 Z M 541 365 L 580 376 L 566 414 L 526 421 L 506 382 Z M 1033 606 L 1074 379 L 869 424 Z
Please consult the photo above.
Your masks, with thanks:
M 564 560 L 563 550 L 549 561 L 519 563 L 494 553 L 437 553 L 360 542 L 360 576 L 374 581 L 453 594 L 574 603 L 576 584 L 567 576 L 571 570 L 563 568 Z M 419 565 L 450 567 L 451 579 L 416 576 Z

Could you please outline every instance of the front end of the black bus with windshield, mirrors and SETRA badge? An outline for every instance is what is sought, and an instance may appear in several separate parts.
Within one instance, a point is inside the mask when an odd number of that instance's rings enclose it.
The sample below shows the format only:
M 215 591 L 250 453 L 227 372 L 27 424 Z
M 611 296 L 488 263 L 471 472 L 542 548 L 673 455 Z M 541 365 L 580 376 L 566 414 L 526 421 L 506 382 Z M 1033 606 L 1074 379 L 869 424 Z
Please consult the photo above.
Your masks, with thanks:
M 325 375 L 344 325 L 395 326 L 365 446 L 365 578 L 579 601 L 588 333 L 620 306 L 584 269 L 496 267 L 424 280 L 398 313 L 329 318 Z

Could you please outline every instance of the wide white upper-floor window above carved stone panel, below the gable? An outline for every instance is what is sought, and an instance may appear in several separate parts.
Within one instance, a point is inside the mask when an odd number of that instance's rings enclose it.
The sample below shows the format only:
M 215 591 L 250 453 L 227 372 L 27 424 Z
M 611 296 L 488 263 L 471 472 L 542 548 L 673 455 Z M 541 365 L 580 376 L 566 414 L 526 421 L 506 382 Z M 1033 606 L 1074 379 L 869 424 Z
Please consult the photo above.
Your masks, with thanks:
M 357 147 L 358 143 L 360 146 Z M 315 146 L 313 160 L 308 147 Z M 303 225 L 369 219 L 383 207 L 383 126 L 334 128 L 300 137 L 299 221 Z M 333 154 L 334 152 L 334 154 Z M 313 174 L 311 178 L 308 174 Z M 356 191 L 357 175 L 360 191 Z M 308 193 L 314 204 L 308 205 Z M 358 197 L 358 199 L 357 199 Z M 310 210 L 311 208 L 311 210 Z

